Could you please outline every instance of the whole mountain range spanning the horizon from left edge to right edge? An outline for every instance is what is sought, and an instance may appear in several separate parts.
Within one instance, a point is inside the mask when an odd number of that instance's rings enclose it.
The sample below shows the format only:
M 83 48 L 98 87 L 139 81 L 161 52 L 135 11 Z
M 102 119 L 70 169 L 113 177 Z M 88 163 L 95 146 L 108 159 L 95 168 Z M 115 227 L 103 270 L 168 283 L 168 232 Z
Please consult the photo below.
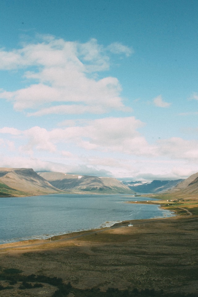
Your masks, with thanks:
M 0 197 L 38 196 L 55 193 L 149 194 L 167 193 L 177 196 L 198 195 L 198 172 L 187 179 L 123 181 L 108 177 L 36 173 L 28 168 L 0 168 Z

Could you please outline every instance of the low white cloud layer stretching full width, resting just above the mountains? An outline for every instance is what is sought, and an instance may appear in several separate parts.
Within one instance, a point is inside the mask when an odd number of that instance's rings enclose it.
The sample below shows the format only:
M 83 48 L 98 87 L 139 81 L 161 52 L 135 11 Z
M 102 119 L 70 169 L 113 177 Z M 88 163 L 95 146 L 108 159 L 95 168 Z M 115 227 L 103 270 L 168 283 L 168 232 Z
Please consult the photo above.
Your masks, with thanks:
M 9 132 L 10 139 L 0 139 L 0 166 L 137 179 L 179 179 L 197 171 L 198 142 L 170 138 L 150 145 L 138 132 L 143 125 L 128 117 L 93 120 L 83 127 L 33 127 L 18 131 L 19 141 L 5 127 L 1 136 Z

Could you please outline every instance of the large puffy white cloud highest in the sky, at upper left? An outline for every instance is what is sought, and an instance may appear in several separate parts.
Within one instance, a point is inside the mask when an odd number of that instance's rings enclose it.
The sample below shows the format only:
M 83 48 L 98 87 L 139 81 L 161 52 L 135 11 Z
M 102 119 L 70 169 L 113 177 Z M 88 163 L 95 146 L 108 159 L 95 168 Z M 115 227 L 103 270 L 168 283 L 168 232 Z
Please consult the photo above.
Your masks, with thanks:
M 117 54 L 131 53 L 121 44 L 116 44 L 115 48 Z M 107 52 L 96 39 L 82 44 L 50 36 L 18 50 L 2 50 L 1 68 L 24 68 L 24 77 L 31 84 L 16 91 L 2 91 L 0 98 L 13 102 L 15 110 L 28 110 L 28 115 L 34 116 L 79 114 L 79 110 L 80 113 L 105 113 L 111 109 L 129 111 L 120 97 L 122 88 L 117 78 L 94 79 L 95 72 L 109 69 Z M 30 71 L 28 67 L 34 70 Z M 60 102 L 65 108 L 59 107 Z

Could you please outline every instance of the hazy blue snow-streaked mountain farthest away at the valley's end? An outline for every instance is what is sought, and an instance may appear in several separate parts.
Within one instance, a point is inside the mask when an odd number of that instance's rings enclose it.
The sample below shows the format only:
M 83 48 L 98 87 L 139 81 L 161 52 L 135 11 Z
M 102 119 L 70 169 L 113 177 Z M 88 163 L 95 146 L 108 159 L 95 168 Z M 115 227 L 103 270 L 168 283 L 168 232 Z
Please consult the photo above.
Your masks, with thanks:
M 162 193 L 174 188 L 183 182 L 183 179 L 177 180 L 153 180 L 150 181 L 124 181 L 131 190 L 138 193 Z

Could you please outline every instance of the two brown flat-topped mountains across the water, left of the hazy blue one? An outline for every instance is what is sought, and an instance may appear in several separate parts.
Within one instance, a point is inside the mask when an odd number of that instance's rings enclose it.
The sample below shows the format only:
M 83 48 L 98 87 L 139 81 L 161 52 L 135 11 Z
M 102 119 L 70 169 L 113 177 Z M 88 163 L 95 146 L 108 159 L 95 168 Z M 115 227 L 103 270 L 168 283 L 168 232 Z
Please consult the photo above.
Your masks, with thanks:
M 113 178 L 57 172 L 36 173 L 28 168 L 0 168 L 0 197 L 48 195 L 61 192 L 133 194 Z

